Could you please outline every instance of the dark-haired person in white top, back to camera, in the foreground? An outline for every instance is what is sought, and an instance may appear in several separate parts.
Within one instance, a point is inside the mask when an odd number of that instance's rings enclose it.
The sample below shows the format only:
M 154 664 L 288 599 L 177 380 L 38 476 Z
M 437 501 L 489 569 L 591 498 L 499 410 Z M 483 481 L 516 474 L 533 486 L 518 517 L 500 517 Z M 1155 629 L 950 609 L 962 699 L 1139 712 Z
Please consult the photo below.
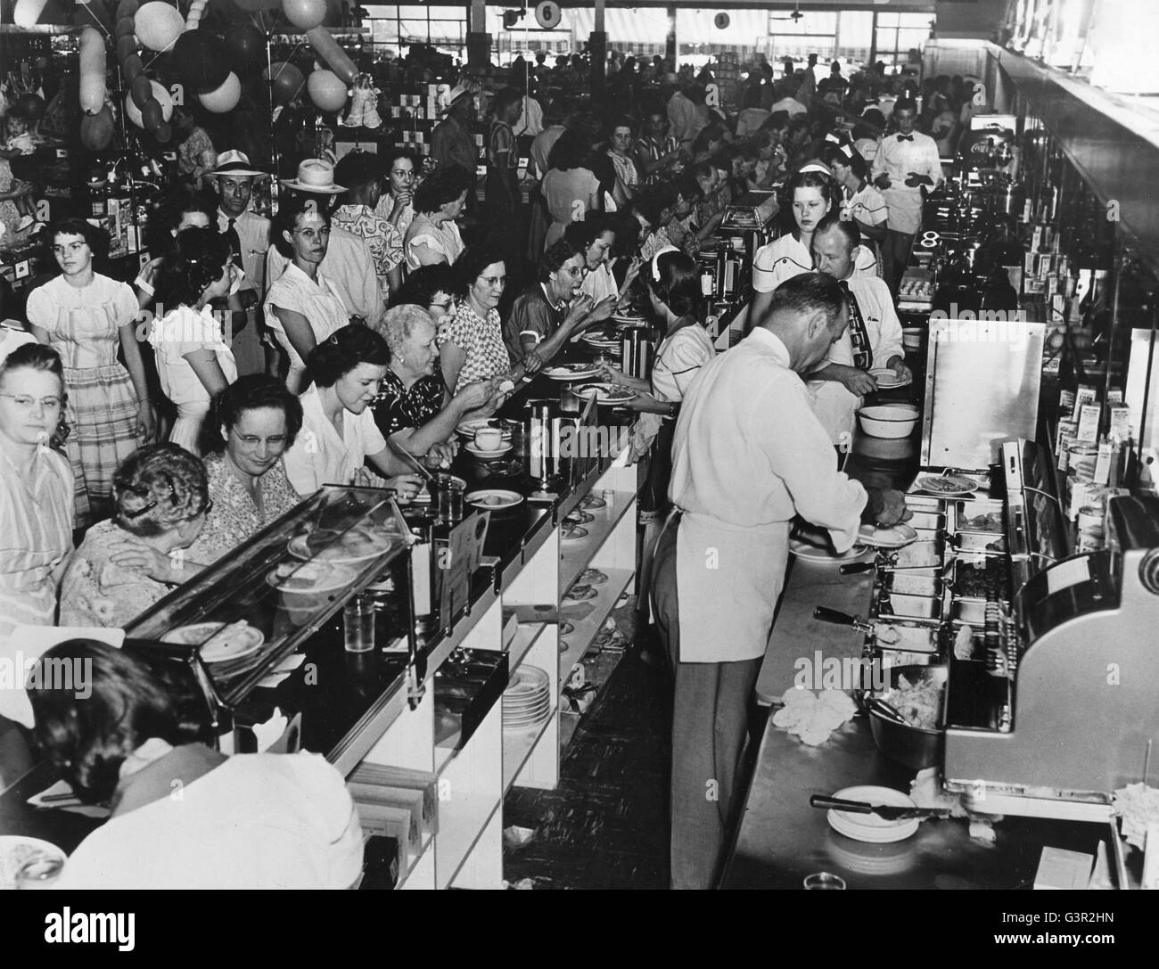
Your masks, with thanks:
M 205 698 L 124 650 L 67 640 L 45 654 L 53 661 L 83 663 L 90 694 L 29 688 L 37 740 L 78 797 L 112 807 L 54 888 L 349 888 L 358 879 L 358 813 L 325 757 L 225 757 L 206 745 Z

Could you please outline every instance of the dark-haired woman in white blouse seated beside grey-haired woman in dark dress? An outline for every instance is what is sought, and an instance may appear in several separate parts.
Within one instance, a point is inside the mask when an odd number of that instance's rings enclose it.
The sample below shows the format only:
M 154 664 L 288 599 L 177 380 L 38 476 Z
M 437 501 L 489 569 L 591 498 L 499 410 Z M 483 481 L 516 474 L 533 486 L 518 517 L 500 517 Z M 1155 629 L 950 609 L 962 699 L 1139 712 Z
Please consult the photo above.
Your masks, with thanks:
M 299 395 L 301 432 L 282 460 L 294 490 L 306 497 L 323 485 L 372 486 L 377 475 L 385 487 L 409 497 L 420 480 L 386 446 L 370 409 L 386 374 L 391 351 L 374 330 L 343 327 L 322 341 L 309 356 L 314 386 Z

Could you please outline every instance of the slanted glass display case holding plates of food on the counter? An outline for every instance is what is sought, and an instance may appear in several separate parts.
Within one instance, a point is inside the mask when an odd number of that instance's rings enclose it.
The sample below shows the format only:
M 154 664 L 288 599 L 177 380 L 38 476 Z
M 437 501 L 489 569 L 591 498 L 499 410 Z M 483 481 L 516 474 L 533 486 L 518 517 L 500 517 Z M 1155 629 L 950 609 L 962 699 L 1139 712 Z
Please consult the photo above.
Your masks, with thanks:
M 411 542 L 391 491 L 327 486 L 125 632 L 199 646 L 218 700 L 233 707 Z M 413 631 L 406 598 L 404 626 Z

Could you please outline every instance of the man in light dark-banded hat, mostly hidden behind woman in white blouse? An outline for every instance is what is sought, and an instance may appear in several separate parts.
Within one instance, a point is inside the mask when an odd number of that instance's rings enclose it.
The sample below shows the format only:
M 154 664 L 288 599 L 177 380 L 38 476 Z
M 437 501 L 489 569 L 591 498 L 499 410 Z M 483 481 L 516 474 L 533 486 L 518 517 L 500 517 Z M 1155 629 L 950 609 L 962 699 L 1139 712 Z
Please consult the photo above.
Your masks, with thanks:
M 334 166 L 328 161 L 307 158 L 298 165 L 296 178 L 279 178 L 283 188 L 318 199 L 319 207 L 329 212 L 347 189 L 334 183 Z M 271 283 L 290 264 L 277 246 L 265 255 L 265 278 Z M 347 314 L 364 321 L 377 320 L 382 312 L 382 296 L 370 247 L 360 235 L 337 225 L 330 226 L 330 245 L 319 269 L 334 283 Z

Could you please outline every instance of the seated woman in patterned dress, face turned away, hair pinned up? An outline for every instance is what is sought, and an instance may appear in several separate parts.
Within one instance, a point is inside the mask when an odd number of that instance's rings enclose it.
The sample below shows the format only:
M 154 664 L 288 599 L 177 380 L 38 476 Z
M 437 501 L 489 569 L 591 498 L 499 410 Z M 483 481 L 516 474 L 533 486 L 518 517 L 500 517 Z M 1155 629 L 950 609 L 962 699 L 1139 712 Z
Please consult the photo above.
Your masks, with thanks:
M 152 444 L 112 480 L 111 520 L 88 530 L 60 584 L 61 626 L 123 627 L 195 574 L 192 545 L 210 509 L 205 468 L 176 444 Z

